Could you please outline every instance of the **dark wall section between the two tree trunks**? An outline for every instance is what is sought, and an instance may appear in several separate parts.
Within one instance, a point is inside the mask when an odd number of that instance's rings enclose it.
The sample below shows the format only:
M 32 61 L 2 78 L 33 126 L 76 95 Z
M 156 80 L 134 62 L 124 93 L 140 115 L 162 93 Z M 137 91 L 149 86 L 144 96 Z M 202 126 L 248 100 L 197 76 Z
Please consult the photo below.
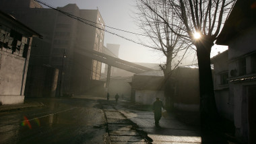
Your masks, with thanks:
M 199 111 L 199 71 L 189 67 L 178 67 L 172 75 L 172 102 L 174 108 Z

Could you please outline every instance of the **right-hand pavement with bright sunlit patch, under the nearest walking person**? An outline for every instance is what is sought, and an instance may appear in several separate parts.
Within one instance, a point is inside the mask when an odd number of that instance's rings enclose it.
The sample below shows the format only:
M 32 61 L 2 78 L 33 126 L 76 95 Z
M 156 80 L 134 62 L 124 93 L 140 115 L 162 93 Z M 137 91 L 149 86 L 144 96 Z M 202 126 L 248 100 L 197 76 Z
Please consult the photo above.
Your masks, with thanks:
M 160 120 L 160 126 L 156 127 L 150 108 L 125 101 L 119 102 L 114 108 L 137 124 L 138 129 L 146 132 L 152 143 L 232 143 L 213 131 L 201 131 L 197 116 L 191 114 L 181 117 L 168 113 Z

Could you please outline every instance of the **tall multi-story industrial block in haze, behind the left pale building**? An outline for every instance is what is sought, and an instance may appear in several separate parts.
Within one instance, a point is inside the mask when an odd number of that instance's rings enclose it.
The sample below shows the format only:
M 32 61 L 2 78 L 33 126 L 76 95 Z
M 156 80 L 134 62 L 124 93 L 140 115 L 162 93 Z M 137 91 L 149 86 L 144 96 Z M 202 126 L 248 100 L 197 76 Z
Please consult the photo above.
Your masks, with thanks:
M 43 39 L 33 40 L 29 70 L 38 65 L 59 69 L 57 95 L 61 95 L 62 88 L 66 93 L 84 92 L 89 89 L 91 80 L 100 79 L 101 63 L 74 51 L 102 52 L 104 21 L 98 9 L 79 9 L 75 4 L 57 7 L 79 20 L 43 8 L 32 0 L 1 0 L 0 9 L 42 34 Z

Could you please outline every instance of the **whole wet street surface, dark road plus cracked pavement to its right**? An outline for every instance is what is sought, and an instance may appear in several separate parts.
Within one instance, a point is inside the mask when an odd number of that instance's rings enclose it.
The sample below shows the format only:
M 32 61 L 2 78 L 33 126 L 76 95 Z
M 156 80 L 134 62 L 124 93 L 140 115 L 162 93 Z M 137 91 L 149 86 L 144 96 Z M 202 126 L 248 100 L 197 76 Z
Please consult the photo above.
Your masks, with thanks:
M 230 143 L 173 114 L 154 125 L 150 110 L 104 98 L 38 98 L 42 108 L 0 112 L 0 143 Z M 123 105 L 124 104 L 124 105 Z

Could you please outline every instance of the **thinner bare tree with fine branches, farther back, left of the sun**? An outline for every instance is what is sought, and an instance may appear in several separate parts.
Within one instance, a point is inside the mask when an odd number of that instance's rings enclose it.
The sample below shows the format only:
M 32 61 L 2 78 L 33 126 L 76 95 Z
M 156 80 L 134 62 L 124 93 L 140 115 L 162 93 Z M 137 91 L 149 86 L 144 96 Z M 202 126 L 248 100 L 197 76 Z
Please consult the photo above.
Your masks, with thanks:
M 150 38 L 150 44 L 156 49 L 161 50 L 166 56 L 166 64 L 160 65 L 160 68 L 164 71 L 164 87 L 166 105 L 168 108 L 172 108 L 173 102 L 170 96 L 170 76 L 172 69 L 177 67 L 185 53 L 189 48 L 189 42 L 180 38 L 182 23 L 176 20 L 179 17 L 175 16 L 174 9 L 170 9 L 170 5 L 167 3 L 158 3 L 158 0 L 152 0 L 150 5 L 144 5 L 141 1 L 137 1 L 138 13 L 136 22 L 141 28 L 142 32 Z M 177 26 L 174 25 L 174 23 Z M 185 28 L 185 27 L 184 27 Z M 172 32 L 174 31 L 174 32 Z M 144 44 L 149 45 L 149 44 Z M 150 47 L 152 47 L 150 46 Z M 183 52 L 181 58 L 179 58 L 179 52 Z M 178 63 L 173 65 L 173 59 L 179 59 Z

